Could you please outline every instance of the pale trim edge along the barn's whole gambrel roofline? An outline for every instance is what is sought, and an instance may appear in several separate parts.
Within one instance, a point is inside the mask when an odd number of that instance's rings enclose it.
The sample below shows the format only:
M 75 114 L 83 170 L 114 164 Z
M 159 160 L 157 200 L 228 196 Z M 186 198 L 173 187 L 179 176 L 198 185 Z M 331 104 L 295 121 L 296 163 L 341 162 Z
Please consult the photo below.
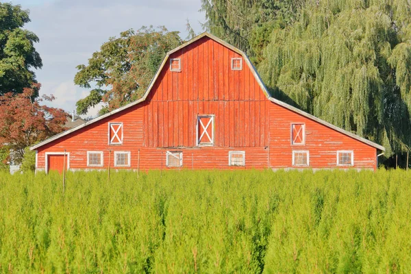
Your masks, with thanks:
M 192 44 L 193 42 L 196 42 L 197 40 L 200 40 L 203 37 L 208 37 L 208 38 L 218 42 L 219 44 L 223 45 L 224 47 L 227 47 L 227 48 L 231 49 L 232 51 L 242 55 L 242 58 L 244 58 L 245 62 L 247 63 L 247 65 L 249 66 L 249 68 L 251 70 L 251 73 L 253 73 L 254 77 L 256 78 L 256 81 L 260 85 L 262 91 L 266 95 L 267 99 L 269 99 L 269 101 L 271 101 L 273 103 L 276 103 L 277 105 L 281 105 L 282 107 L 284 107 L 288 110 L 291 110 L 292 112 L 296 112 L 298 114 L 301 114 L 302 116 L 306 116 L 308 119 L 316 121 L 317 123 L 321 123 L 322 125 L 325 125 L 326 127 L 329 127 L 331 129 L 336 130 L 337 132 L 340 132 L 340 133 L 345 134 L 345 135 L 347 135 L 351 138 L 359 140 L 360 142 L 364 142 L 365 144 L 370 145 L 371 147 L 375 147 L 376 149 L 379 149 L 381 151 L 385 151 L 384 147 L 382 147 L 381 145 L 376 144 L 375 142 L 371 142 L 371 140 L 367 140 L 366 138 L 362 138 L 362 137 L 360 137 L 356 134 L 353 134 L 351 132 L 347 132 L 345 129 L 342 129 L 340 127 L 336 127 L 335 125 L 332 125 L 331 123 L 323 121 L 323 120 L 317 118 L 316 116 L 313 116 L 311 114 L 308 114 L 307 112 L 304 112 L 303 110 L 299 110 L 298 108 L 295 108 L 292 105 L 288 105 L 288 103 L 284 103 L 283 101 L 279 101 L 278 99 L 275 99 L 275 98 L 271 97 L 271 95 L 268 92 L 264 82 L 262 82 L 262 79 L 261 79 L 260 75 L 258 74 L 256 67 L 251 63 L 251 61 L 249 60 L 247 54 L 245 54 L 244 51 L 241 51 L 240 49 L 234 47 L 233 45 L 230 45 L 229 43 L 225 42 L 224 40 L 221 40 L 220 38 L 218 38 L 218 37 L 216 37 L 216 36 L 214 36 L 214 35 L 212 35 L 208 32 L 203 32 L 202 34 L 199 34 L 195 38 L 192 38 L 191 40 L 188 40 L 187 42 L 180 45 L 179 47 L 176 47 L 175 49 L 167 52 L 166 56 L 164 56 L 164 59 L 162 60 L 162 63 L 160 65 L 160 67 L 158 68 L 158 71 L 155 73 L 153 79 L 151 79 L 151 82 L 150 82 L 147 90 L 145 91 L 144 95 L 140 99 L 138 99 L 137 101 L 134 101 L 132 103 L 128 103 L 127 105 L 123 105 L 123 107 L 117 108 L 116 110 L 112 110 L 111 112 L 108 112 L 106 114 L 98 116 L 95 119 L 92 119 L 92 120 L 88 121 L 87 123 L 84 123 L 84 124 L 79 125 L 77 127 L 73 127 L 72 129 L 66 130 L 65 132 L 62 132 L 60 134 L 57 134 L 57 135 L 52 136 L 50 138 L 47 138 L 46 140 L 43 140 L 42 142 L 39 142 L 37 145 L 34 145 L 34 146 L 30 147 L 30 150 L 34 150 L 34 149 L 37 149 L 38 147 L 42 147 L 43 145 L 47 145 L 49 142 L 53 142 L 54 140 L 57 140 L 57 139 L 59 139 L 63 136 L 71 134 L 72 132 L 76 132 L 79 129 L 87 127 L 88 125 L 96 123 L 97 121 L 100 121 L 100 120 L 105 119 L 109 116 L 112 116 L 114 114 L 122 112 L 123 110 L 126 110 L 127 108 L 131 108 L 132 106 L 137 105 L 138 103 L 141 103 L 141 102 L 145 101 L 147 99 L 151 89 L 153 88 L 155 81 L 160 76 L 160 73 L 161 73 L 162 69 L 164 68 L 167 60 L 169 60 L 170 55 L 177 52 L 177 51 L 179 51 L 180 49 L 183 49 L 184 47 L 187 47 L 188 45 Z

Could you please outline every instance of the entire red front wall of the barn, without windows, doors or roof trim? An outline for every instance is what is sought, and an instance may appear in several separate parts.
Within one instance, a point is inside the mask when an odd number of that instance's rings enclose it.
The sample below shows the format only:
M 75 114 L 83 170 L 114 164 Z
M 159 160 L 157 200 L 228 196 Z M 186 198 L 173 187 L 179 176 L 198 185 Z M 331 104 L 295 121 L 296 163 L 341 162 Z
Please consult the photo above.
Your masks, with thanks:
M 292 151 L 310 151 L 309 168 L 336 168 L 336 151 L 353 150 L 354 168 L 375 169 L 376 149 L 266 98 L 245 60 L 231 69 L 231 49 L 203 37 L 173 53 L 182 71 L 167 60 L 146 101 L 38 148 L 37 169 L 46 152 L 70 153 L 70 169 L 87 166 L 87 151 L 103 151 L 103 167 L 114 168 L 114 151 L 130 151 L 125 169 L 166 169 L 166 151 L 183 152 L 185 169 L 292 167 Z M 214 115 L 214 146 L 197 147 L 197 116 Z M 123 123 L 123 144 L 108 145 L 108 123 Z M 306 124 L 306 143 L 290 143 L 291 123 Z M 110 152 L 111 152 L 111 157 Z M 246 166 L 228 165 L 229 151 L 245 151 Z M 140 155 L 140 158 L 138 158 Z M 140 159 L 140 160 L 138 160 Z M 124 169 L 124 168 L 123 168 Z

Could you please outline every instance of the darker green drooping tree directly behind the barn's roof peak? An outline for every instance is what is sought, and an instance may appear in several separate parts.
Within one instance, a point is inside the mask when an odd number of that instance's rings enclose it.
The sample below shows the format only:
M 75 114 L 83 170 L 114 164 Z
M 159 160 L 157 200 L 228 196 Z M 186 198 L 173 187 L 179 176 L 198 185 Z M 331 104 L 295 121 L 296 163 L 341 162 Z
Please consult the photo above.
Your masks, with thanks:
M 306 0 L 201 0 L 208 32 L 242 49 L 254 64 L 262 60 L 275 27 L 295 21 Z

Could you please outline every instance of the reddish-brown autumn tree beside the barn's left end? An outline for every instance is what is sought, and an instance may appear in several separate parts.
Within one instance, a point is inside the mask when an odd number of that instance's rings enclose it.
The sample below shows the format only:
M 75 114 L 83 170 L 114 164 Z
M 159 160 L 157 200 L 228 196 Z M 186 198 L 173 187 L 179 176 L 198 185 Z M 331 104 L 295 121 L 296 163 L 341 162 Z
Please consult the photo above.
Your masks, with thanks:
M 43 95 L 33 99 L 34 88 L 24 88 L 23 93 L 12 92 L 0 96 L 0 147 L 7 146 L 21 160 L 25 147 L 63 132 L 66 112 L 60 108 L 41 105 L 55 97 Z

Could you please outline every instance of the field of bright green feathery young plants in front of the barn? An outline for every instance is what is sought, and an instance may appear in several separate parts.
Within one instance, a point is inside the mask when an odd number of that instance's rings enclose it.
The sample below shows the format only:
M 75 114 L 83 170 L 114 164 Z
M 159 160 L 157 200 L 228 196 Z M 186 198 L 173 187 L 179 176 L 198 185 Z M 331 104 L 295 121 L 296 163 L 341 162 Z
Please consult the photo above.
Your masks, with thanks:
M 411 273 L 411 173 L 0 174 L 1 273 Z

